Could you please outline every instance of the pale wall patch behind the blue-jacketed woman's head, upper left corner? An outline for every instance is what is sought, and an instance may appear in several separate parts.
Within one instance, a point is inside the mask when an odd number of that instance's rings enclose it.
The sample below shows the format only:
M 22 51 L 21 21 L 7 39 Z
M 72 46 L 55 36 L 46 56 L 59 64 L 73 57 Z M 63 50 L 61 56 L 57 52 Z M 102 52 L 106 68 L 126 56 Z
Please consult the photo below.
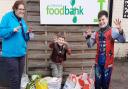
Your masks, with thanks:
M 0 0 L 0 20 L 2 16 L 12 9 L 12 5 L 16 0 Z

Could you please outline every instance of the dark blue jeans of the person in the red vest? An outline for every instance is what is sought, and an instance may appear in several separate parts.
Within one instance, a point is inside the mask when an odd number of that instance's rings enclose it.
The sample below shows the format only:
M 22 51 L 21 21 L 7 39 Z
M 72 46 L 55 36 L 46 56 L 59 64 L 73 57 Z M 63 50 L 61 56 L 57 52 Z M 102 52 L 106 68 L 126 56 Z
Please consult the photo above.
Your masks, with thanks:
M 95 89 L 109 89 L 112 67 L 95 65 Z

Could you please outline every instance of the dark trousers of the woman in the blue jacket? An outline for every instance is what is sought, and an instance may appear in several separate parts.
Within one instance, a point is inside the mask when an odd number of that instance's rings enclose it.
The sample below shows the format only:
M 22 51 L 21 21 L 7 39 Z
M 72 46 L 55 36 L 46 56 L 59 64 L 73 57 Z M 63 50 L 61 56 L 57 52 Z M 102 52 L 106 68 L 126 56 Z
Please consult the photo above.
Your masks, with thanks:
M 10 89 L 20 89 L 21 77 L 24 70 L 25 56 L 4 57 L 7 66 L 7 76 Z

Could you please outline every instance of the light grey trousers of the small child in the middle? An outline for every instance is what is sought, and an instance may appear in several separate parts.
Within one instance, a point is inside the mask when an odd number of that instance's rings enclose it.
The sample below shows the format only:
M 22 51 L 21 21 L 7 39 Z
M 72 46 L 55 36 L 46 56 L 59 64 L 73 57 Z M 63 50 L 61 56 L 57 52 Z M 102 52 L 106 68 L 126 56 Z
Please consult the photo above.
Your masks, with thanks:
M 50 67 L 52 69 L 53 77 L 62 77 L 63 76 L 63 65 L 62 63 L 50 63 Z

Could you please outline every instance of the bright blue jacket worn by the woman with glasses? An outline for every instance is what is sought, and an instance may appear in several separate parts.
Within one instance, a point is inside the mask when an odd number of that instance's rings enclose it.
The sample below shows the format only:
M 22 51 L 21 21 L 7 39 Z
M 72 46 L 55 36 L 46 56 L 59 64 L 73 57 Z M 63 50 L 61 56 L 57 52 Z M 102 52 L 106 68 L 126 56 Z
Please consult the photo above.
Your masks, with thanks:
M 21 19 L 25 39 L 22 34 L 22 29 L 18 32 L 14 32 L 14 28 L 20 26 L 18 19 L 14 15 L 13 11 L 6 13 L 0 22 L 0 37 L 2 38 L 2 57 L 20 57 L 26 54 L 26 42 L 29 40 L 29 34 L 27 33 L 28 27 Z

